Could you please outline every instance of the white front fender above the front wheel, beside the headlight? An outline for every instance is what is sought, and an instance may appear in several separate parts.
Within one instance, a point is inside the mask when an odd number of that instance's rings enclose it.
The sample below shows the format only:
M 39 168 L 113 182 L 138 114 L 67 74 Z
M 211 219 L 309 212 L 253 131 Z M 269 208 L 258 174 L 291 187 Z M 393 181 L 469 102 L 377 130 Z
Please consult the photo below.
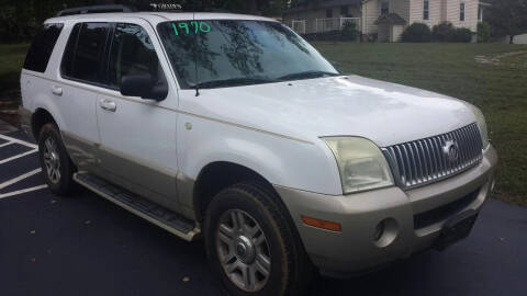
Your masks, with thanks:
M 335 158 L 317 138 L 309 143 L 194 115 L 180 116 L 179 170 L 194 181 L 206 164 L 227 161 L 259 173 L 273 185 L 341 194 Z

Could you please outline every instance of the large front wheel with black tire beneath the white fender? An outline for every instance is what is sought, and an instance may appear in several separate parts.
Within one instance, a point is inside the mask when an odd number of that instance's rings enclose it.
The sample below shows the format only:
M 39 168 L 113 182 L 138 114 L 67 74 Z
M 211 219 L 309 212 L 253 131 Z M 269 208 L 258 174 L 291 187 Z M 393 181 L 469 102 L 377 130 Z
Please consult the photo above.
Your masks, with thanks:
M 240 183 L 220 192 L 206 209 L 209 263 L 231 295 L 302 295 L 314 275 L 277 198 L 262 185 Z

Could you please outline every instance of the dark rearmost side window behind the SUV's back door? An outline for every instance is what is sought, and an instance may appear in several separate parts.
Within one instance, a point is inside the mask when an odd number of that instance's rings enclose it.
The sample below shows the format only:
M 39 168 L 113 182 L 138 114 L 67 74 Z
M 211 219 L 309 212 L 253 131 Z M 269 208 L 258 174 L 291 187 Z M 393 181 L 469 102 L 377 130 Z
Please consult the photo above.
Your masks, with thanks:
M 45 24 L 33 41 L 25 57 L 24 69 L 45 72 L 53 48 L 63 31 L 63 24 Z

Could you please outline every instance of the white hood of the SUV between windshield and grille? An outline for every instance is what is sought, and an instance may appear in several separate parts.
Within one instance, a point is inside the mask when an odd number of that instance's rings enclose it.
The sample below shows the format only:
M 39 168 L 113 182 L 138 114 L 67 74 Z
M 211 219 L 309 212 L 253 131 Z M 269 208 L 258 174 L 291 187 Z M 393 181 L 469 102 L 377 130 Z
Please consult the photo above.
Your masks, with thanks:
M 311 140 L 359 136 L 380 147 L 444 134 L 475 122 L 469 104 L 359 76 L 202 90 L 182 104 L 200 115 Z M 198 107 L 198 109 L 197 109 Z

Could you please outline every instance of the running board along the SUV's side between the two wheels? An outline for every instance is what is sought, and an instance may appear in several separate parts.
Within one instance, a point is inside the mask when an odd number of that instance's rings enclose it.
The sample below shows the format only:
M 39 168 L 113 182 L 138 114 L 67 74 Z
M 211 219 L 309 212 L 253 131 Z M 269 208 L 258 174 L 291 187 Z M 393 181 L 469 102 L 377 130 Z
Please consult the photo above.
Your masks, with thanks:
M 194 221 L 91 173 L 78 172 L 74 179 L 110 202 L 184 240 L 192 241 L 201 232 Z

